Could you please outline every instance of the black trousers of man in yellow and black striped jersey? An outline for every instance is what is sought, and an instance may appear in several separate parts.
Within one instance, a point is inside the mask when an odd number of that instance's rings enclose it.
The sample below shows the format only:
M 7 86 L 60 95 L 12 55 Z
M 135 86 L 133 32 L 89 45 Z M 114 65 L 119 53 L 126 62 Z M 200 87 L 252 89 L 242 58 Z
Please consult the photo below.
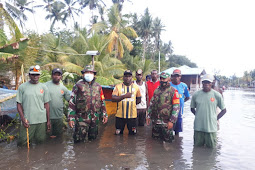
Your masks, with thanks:
M 129 134 L 136 134 L 136 118 L 119 118 L 116 117 L 115 127 L 116 129 L 120 129 L 120 134 L 123 134 L 125 126 L 127 124 L 127 128 Z

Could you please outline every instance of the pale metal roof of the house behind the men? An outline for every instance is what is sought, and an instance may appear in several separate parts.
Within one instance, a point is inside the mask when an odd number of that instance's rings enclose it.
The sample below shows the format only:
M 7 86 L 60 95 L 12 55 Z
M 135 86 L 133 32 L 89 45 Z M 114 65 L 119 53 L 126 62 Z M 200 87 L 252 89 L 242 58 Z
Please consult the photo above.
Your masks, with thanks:
M 181 67 L 171 67 L 167 70 L 164 70 L 163 72 L 166 72 L 168 74 L 172 74 L 175 69 L 181 70 L 182 75 L 200 75 L 203 72 L 206 73 L 204 71 L 204 69 L 202 69 L 202 68 L 191 68 L 191 67 L 186 66 L 186 65 L 183 65 Z

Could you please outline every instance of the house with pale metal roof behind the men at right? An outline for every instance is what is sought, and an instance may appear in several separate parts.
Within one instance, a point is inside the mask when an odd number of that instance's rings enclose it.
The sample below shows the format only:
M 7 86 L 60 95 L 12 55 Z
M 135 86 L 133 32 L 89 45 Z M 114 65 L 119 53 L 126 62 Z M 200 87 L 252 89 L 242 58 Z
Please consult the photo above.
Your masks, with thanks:
M 206 74 L 202 68 L 191 68 L 183 65 L 181 67 L 171 67 L 164 72 L 172 74 L 175 69 L 181 70 L 181 81 L 186 83 L 191 92 L 197 91 L 202 88 L 201 77 Z

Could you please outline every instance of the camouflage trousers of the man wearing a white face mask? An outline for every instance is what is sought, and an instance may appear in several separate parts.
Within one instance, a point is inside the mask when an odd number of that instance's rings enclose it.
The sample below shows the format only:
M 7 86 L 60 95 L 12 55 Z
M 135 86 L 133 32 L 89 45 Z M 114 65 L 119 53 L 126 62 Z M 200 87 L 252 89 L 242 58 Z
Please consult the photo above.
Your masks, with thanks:
M 86 137 L 88 137 L 88 140 L 96 139 L 98 135 L 98 123 L 99 114 L 97 113 L 89 113 L 76 118 L 73 134 L 74 142 L 85 142 Z

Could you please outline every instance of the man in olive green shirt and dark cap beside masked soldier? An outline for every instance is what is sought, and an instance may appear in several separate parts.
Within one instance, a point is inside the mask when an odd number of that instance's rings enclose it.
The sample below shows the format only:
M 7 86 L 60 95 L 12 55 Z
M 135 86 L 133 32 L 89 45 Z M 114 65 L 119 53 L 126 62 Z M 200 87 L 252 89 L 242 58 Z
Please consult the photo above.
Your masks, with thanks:
M 70 100 L 70 93 L 67 88 L 60 83 L 62 79 L 62 71 L 59 68 L 52 70 L 52 80 L 48 81 L 45 85 L 50 92 L 50 122 L 51 133 L 50 137 L 55 138 L 62 134 L 63 130 L 63 98 L 67 101 Z

